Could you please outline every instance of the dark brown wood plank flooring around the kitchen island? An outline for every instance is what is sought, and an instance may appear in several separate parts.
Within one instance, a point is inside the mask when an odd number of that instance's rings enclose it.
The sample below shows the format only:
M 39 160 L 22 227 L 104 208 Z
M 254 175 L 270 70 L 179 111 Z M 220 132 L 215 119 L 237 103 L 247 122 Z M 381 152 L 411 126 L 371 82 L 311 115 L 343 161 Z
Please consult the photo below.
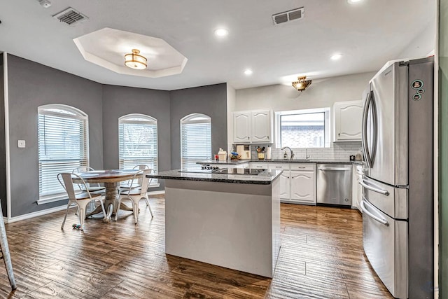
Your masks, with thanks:
M 392 298 L 363 253 L 358 211 L 281 204 L 273 279 L 164 253 L 165 200 L 118 221 L 78 223 L 74 209 L 6 225 L 18 289 L 0 264 L 0 298 Z

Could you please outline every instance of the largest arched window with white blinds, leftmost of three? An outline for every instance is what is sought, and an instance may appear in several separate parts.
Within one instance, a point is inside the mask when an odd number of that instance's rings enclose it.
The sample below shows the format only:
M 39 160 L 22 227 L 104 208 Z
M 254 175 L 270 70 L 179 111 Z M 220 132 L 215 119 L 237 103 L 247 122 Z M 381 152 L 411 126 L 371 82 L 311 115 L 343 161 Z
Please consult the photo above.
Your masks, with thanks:
M 87 114 L 71 106 L 38 107 L 39 200 L 66 195 L 59 172 L 88 166 Z

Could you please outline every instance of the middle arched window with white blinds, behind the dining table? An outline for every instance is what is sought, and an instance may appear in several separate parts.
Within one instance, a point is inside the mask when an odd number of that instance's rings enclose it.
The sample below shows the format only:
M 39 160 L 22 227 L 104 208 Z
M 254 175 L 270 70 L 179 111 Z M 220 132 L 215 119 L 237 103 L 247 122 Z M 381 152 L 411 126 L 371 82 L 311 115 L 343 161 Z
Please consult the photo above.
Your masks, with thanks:
M 158 173 L 157 120 L 144 114 L 128 114 L 118 119 L 120 169 L 148 165 Z M 153 179 L 154 182 L 154 179 Z

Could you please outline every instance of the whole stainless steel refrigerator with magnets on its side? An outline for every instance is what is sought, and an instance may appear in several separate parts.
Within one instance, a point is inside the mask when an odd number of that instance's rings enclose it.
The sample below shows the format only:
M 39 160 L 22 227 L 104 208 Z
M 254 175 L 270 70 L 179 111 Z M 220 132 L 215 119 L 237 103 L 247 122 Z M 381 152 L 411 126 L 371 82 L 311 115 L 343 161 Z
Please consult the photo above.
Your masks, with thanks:
M 433 298 L 433 69 L 388 63 L 363 94 L 363 246 L 395 298 Z

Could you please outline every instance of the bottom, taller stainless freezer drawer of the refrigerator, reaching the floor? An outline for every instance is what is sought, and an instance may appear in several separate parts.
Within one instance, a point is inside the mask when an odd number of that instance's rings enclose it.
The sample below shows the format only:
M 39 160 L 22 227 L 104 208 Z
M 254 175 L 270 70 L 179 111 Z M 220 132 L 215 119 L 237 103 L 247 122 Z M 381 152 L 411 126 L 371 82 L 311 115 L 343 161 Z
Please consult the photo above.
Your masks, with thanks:
M 395 298 L 407 296 L 407 222 L 397 221 L 365 199 L 363 209 L 363 245 L 379 279 Z

